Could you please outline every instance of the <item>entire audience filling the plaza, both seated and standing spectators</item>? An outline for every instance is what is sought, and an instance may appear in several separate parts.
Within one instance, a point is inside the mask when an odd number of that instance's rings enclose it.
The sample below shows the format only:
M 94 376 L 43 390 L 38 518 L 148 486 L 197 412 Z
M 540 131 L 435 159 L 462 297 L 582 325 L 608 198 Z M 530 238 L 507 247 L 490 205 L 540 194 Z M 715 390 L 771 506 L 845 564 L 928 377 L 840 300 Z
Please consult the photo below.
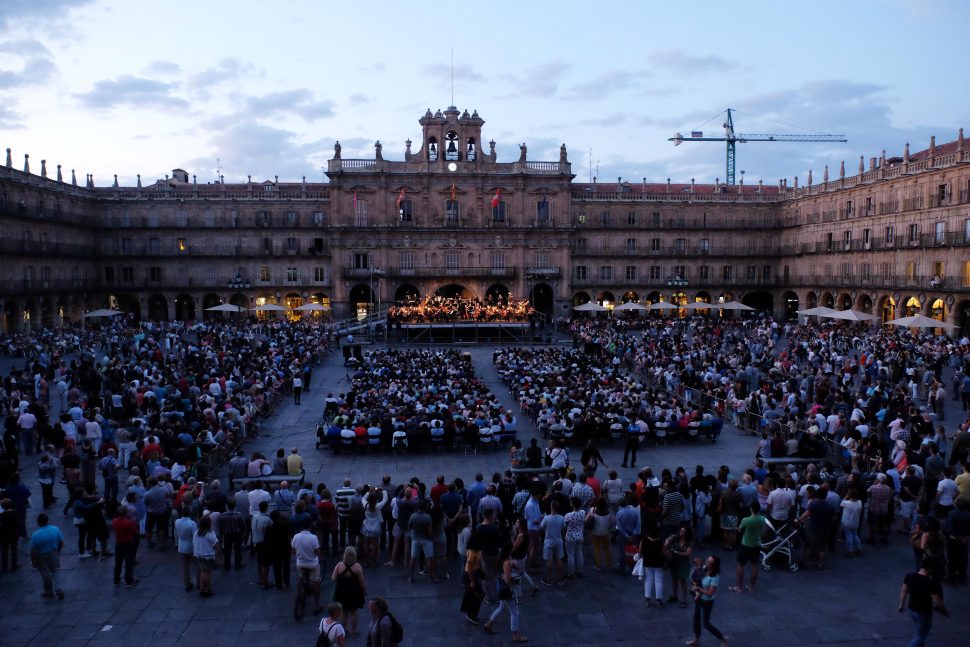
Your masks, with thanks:
M 275 462 L 238 449 L 257 433 L 259 411 L 278 399 L 273 393 L 297 376 L 310 389 L 314 358 L 329 343 L 325 329 L 283 321 L 109 327 L 98 346 L 82 339 L 75 359 L 41 357 L 42 349 L 7 376 L 0 399 L 4 569 L 18 565 L 27 529 L 21 473 L 37 469 L 45 508 L 55 507 L 55 484 L 65 481 L 67 502 L 57 507 L 75 526 L 79 556 L 113 556 L 118 586 L 137 586 L 142 542 L 172 549 L 185 590 L 203 597 L 216 594 L 220 567 L 250 567 L 267 590 L 307 576 L 315 612 L 324 613 L 327 580 L 333 603 L 319 629 L 334 644 L 359 632 L 365 606 L 369 644 L 399 642 L 403 628 L 386 601 L 368 602 L 368 575 L 378 565 L 406 568 L 414 585 L 425 577 L 450 587 L 456 612 L 485 632 L 498 632 L 507 614 L 513 642 L 523 643 L 520 611 L 529 595 L 592 575 L 590 559 L 593 577 L 629 573 L 635 556 L 644 606 L 692 606 L 694 642 L 706 629 L 725 643 L 712 622 L 719 589 L 754 592 L 763 542 L 786 529 L 798 537 L 799 561 L 820 570 L 839 544 L 846 558 L 871 558 L 878 549 L 864 551 L 864 542 L 878 547 L 905 536 L 915 568 L 900 607 L 925 638 L 927 608 L 929 618 L 933 605 L 946 610 L 942 584 L 966 580 L 970 420 L 947 420 L 943 405 L 962 399 L 970 410 L 968 340 L 768 319 L 636 328 L 582 321 L 571 332 L 573 349 L 496 351 L 518 412 L 453 349 L 370 351 L 347 392 L 325 399 L 319 440 L 338 451 L 410 450 L 436 438 L 446 446 L 459 438 L 476 446 L 510 441 L 509 469 L 468 483 L 441 474 L 434 483 L 385 476 L 297 486 L 298 448 L 281 449 Z M 537 439 L 522 449 L 516 415 L 554 441 L 545 452 Z M 599 440 L 622 438 L 622 465 L 635 467 L 640 443 L 665 420 L 685 417 L 688 425 L 730 417 L 755 432 L 751 464 L 713 474 L 644 467 L 625 482 L 597 449 Z M 585 444 L 575 465 L 565 451 L 571 434 Z M 819 446 L 836 447 L 835 459 L 813 453 Z M 35 451 L 36 468 L 27 460 Z M 233 454 L 230 478 L 245 477 L 245 488 L 227 491 L 199 469 L 214 451 Z M 788 457 L 816 460 L 786 464 Z M 779 468 L 766 467 L 778 459 Z M 513 471 L 537 461 L 554 478 Z M 261 482 L 274 473 L 294 484 L 274 490 Z M 57 555 L 75 537 L 49 514 L 38 515 L 31 560 L 45 597 L 63 597 Z M 729 586 L 721 586 L 715 545 L 736 554 Z M 487 614 L 485 604 L 494 605 Z

